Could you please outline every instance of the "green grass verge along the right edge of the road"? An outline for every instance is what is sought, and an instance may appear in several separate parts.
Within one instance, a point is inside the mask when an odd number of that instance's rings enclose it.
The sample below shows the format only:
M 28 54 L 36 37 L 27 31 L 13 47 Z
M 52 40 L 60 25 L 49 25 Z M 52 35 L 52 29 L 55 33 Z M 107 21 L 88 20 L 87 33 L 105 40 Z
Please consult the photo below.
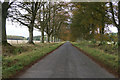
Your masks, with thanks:
M 111 72 L 118 72 L 117 55 L 106 53 L 104 50 L 101 50 L 97 47 L 90 47 L 89 45 L 92 45 L 92 43 L 87 41 L 81 41 L 79 43 L 72 42 L 72 44 L 80 48 L 82 51 L 84 51 L 90 57 L 94 58 L 96 61 L 99 61 L 100 63 L 105 65 L 107 68 L 109 68 L 109 70 L 111 70 Z

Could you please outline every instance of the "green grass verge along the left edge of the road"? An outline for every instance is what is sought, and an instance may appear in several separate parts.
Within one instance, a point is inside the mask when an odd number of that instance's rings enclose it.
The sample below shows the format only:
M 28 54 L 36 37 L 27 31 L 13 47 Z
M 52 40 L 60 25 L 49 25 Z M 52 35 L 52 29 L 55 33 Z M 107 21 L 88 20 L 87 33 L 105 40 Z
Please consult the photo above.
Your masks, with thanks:
M 36 44 L 34 46 L 26 45 L 27 47 L 29 46 L 27 51 L 23 51 L 20 54 L 19 51 L 16 51 L 15 55 L 3 56 L 2 77 L 9 78 L 15 75 L 17 72 L 24 69 L 25 66 L 39 60 L 42 56 L 56 49 L 61 44 L 63 43 L 44 43 Z M 25 45 L 16 45 L 16 47 L 19 46 L 25 47 Z

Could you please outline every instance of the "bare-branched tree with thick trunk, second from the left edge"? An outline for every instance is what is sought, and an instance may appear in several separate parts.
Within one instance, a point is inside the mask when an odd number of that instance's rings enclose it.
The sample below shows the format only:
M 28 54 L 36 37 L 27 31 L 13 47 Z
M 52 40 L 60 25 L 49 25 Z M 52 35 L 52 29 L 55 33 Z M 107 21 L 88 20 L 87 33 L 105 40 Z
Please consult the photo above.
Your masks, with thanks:
M 20 24 L 27 26 L 29 29 L 29 44 L 33 43 L 33 29 L 36 19 L 36 14 L 39 10 L 39 2 L 16 2 L 12 6 L 12 19 Z

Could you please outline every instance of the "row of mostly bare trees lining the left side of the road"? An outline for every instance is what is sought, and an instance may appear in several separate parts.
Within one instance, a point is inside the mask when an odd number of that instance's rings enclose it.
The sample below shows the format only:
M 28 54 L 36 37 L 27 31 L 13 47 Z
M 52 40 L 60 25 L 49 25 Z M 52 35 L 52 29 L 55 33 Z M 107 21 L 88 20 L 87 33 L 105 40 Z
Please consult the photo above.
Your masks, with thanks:
M 2 3 L 2 42 L 7 43 L 6 18 L 13 22 L 24 25 L 29 30 L 28 43 L 33 44 L 33 30 L 37 28 L 42 34 L 47 34 L 47 41 L 50 36 L 58 38 L 60 27 L 67 21 L 66 3 L 63 2 L 3 2 Z

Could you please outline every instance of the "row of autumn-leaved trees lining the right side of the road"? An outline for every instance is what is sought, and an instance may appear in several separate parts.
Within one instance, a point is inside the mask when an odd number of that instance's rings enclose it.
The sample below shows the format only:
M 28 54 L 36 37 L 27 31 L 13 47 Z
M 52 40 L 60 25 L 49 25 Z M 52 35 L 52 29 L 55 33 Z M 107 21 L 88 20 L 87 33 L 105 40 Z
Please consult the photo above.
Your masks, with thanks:
M 113 25 L 118 30 L 118 56 L 120 56 L 120 1 L 71 4 L 73 9 L 71 39 L 73 41 L 81 38 L 95 39 L 102 45 L 107 35 L 106 28 Z

